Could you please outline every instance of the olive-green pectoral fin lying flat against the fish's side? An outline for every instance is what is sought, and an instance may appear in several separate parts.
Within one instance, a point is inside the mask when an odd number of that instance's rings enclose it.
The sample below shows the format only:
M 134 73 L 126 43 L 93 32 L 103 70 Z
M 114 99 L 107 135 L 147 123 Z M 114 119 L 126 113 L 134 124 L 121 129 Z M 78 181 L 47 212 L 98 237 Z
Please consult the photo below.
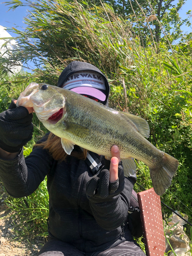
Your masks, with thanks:
M 87 137 L 90 133 L 89 128 L 81 124 L 72 123 L 72 122 L 63 122 L 63 123 L 65 124 L 65 130 L 70 130 L 71 134 L 74 134 L 79 138 Z

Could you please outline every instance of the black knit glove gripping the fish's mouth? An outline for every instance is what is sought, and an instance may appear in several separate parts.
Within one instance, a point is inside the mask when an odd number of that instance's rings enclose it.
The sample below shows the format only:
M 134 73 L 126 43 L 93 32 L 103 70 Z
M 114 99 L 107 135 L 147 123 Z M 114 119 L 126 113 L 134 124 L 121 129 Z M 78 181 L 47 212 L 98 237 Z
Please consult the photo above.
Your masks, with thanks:
M 9 109 L 0 113 L 0 147 L 10 153 L 19 152 L 32 138 L 33 114 L 24 106 L 16 108 L 12 100 Z

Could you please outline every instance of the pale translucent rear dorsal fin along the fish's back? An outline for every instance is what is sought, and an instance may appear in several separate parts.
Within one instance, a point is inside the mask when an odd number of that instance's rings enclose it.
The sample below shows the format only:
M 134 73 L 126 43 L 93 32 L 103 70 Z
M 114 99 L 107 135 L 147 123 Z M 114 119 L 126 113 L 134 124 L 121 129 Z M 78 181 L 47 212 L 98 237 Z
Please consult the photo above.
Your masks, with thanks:
M 150 127 L 145 119 L 139 116 L 132 115 L 130 113 L 121 112 L 125 118 L 129 118 L 137 127 L 138 132 L 144 137 L 150 137 Z

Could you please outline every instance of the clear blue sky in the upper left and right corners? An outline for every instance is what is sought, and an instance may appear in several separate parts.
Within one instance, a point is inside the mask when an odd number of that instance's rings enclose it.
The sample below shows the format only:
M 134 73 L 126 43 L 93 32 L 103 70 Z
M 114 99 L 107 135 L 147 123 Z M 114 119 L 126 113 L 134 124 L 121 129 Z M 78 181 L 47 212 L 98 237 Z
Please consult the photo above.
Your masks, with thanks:
M 6 0 L 5 0 L 6 1 Z M 0 0 L 1 3 L 1 0 Z M 178 3 L 178 0 L 175 0 L 174 3 Z M 179 11 L 180 16 L 184 19 L 187 18 L 186 12 L 188 10 L 192 9 L 191 0 L 187 0 L 186 4 L 182 7 L 182 9 Z M 4 27 L 16 27 L 19 26 L 20 29 L 22 27 L 25 27 L 24 19 L 23 17 L 27 16 L 28 11 L 27 7 L 18 7 L 14 11 L 9 10 L 9 7 L 6 6 L 4 3 L 0 4 L 0 25 Z M 192 17 L 190 18 L 192 21 Z M 190 27 L 183 26 L 182 27 L 184 32 L 192 32 L 192 29 Z M 14 33 L 11 33 L 11 36 L 15 36 Z

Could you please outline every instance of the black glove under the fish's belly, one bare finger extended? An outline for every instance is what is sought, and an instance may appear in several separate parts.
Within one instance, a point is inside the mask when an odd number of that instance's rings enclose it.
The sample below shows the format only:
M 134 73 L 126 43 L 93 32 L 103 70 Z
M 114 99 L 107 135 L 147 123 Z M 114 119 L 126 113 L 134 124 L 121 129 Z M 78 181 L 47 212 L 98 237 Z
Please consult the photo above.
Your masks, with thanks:
M 99 203 L 111 200 L 119 195 L 124 188 L 124 173 L 122 162 L 118 165 L 118 179 L 110 182 L 108 169 L 101 170 L 99 176 L 93 176 L 86 184 L 87 197 L 90 201 Z

